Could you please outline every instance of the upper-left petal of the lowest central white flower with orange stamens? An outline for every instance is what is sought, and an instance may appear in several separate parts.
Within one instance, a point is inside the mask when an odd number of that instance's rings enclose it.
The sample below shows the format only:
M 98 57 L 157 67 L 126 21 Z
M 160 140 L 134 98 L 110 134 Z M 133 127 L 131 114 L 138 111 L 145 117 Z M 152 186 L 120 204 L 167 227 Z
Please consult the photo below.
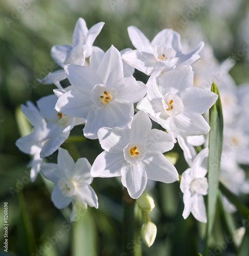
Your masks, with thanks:
M 109 153 L 123 153 L 129 138 L 126 130 L 102 127 L 98 131 L 101 147 Z

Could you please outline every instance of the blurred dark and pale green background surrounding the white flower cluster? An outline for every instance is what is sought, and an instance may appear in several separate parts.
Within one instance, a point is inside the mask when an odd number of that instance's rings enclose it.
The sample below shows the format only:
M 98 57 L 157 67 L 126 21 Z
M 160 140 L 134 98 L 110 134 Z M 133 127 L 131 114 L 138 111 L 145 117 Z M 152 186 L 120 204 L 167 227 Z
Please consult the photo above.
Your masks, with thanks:
M 1 0 L 0 220 L 4 220 L 3 206 L 8 202 L 8 255 L 125 256 L 121 249 L 120 181 L 95 179 L 93 188 L 99 197 L 99 209 L 88 210 L 84 218 L 72 225 L 70 209 L 60 211 L 50 200 L 53 184 L 41 175 L 34 183 L 29 181 L 30 170 L 26 165 L 30 157 L 15 146 L 15 141 L 32 129 L 21 116 L 19 106 L 27 100 L 35 102 L 55 89 L 52 84 L 39 84 L 36 78 L 42 79 L 51 71 L 53 45 L 71 44 L 79 17 L 86 20 L 88 28 L 105 22 L 94 43 L 104 51 L 111 45 L 119 50 L 133 49 L 127 33 L 131 25 L 141 29 L 150 40 L 164 28 L 179 32 L 182 42 L 188 41 L 192 47 L 205 40 L 218 61 L 236 54 L 246 40 L 249 45 L 247 0 Z M 236 60 L 230 74 L 236 84 L 249 83 L 249 49 Z M 148 79 L 139 72 L 135 72 L 135 77 L 144 82 Z M 75 127 L 73 135 L 83 136 L 82 127 Z M 102 151 L 97 140 L 67 142 L 63 147 L 75 160 L 86 157 L 91 164 Z M 176 168 L 182 173 L 187 164 L 177 145 L 174 151 L 179 153 Z M 56 154 L 48 159 L 56 160 Z M 157 225 L 155 243 L 147 248 L 138 239 L 131 246 L 142 248 L 143 255 L 197 255 L 203 247 L 203 225 L 192 216 L 186 221 L 182 218 L 184 205 L 179 184 L 152 185 L 156 204 L 151 213 Z M 244 200 L 248 204 L 249 200 Z M 234 219 L 240 225 L 236 214 Z M 214 240 L 224 241 L 220 222 L 217 218 Z M 1 228 L 1 255 L 3 233 Z M 220 255 L 235 255 L 233 249 L 229 245 Z

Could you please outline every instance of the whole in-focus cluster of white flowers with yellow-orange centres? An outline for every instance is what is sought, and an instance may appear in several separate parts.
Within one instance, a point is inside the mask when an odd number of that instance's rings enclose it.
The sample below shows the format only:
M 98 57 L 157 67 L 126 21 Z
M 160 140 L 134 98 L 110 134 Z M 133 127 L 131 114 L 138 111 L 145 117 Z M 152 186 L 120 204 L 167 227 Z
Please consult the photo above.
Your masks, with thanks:
M 77 204 L 98 207 L 97 195 L 89 186 L 93 177 L 121 176 L 133 199 L 142 195 L 148 179 L 177 181 L 178 172 L 163 153 L 172 150 L 178 141 L 191 166 L 180 183 L 184 218 L 191 211 L 197 220 L 206 222 L 202 196 L 208 188 L 207 168 L 203 167 L 208 151 L 205 149 L 195 157 L 193 146 L 205 142 L 203 135 L 210 126 L 202 114 L 218 96 L 194 86 L 191 65 L 200 60 L 203 42 L 186 54 L 177 32 L 164 29 L 150 42 L 131 26 L 128 34 L 136 50 L 119 51 L 111 46 L 104 52 L 93 46 L 103 25 L 98 23 L 88 30 L 85 20 L 79 18 L 72 46 L 52 48 L 51 56 L 62 69 L 41 80 L 44 84 L 54 83 L 58 89 L 39 99 L 37 107 L 31 102 L 21 106 L 34 129 L 30 135 L 19 138 L 16 145 L 33 156 L 29 164 L 32 181 L 39 170 L 53 181 L 54 205 L 61 209 L 72 203 L 74 220 Z M 134 69 L 149 76 L 146 84 L 133 77 Z M 61 81 L 65 78 L 71 85 L 63 88 Z M 151 119 L 160 130 L 152 129 Z M 78 124 L 84 124 L 84 136 L 98 139 L 104 150 L 93 166 L 85 158 L 74 163 L 60 147 Z M 44 163 L 43 159 L 56 150 L 58 164 Z

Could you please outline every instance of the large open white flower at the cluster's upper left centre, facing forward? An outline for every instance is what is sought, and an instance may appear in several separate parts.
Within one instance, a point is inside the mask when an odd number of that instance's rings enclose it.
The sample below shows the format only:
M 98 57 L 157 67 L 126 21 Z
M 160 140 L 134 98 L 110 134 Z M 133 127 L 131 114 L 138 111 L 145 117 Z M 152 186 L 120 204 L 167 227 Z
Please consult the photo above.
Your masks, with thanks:
M 60 96 L 56 110 L 85 118 L 85 137 L 97 139 L 101 127 L 130 127 L 133 103 L 144 97 L 147 87 L 133 77 L 124 78 L 120 52 L 114 46 L 105 53 L 97 71 L 78 65 L 68 65 L 65 71 L 75 89 Z

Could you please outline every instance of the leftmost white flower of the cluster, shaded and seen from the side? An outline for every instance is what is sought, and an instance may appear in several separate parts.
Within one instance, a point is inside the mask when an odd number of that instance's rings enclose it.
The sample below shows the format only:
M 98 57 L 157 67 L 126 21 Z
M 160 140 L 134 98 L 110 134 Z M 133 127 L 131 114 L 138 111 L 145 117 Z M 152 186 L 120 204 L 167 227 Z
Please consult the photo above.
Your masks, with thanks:
M 25 154 L 33 156 L 28 166 L 31 167 L 30 178 L 34 182 L 43 162 L 43 158 L 40 158 L 40 152 L 49 130 L 47 129 L 46 120 L 31 101 L 27 101 L 27 106 L 21 105 L 21 111 L 34 126 L 34 129 L 31 134 L 19 138 L 16 141 L 16 146 Z

